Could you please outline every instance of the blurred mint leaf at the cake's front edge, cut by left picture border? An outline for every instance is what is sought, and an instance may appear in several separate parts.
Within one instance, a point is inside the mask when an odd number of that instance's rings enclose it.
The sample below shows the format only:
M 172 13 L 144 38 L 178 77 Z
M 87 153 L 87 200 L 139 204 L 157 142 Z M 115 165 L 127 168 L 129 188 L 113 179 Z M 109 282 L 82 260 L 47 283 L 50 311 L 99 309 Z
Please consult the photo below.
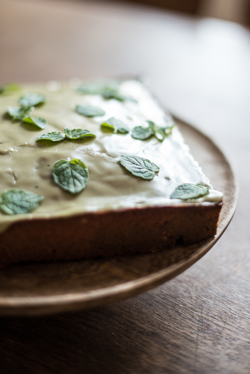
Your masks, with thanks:
M 28 213 L 37 208 L 43 199 L 42 195 L 12 188 L 1 194 L 0 209 L 6 214 Z

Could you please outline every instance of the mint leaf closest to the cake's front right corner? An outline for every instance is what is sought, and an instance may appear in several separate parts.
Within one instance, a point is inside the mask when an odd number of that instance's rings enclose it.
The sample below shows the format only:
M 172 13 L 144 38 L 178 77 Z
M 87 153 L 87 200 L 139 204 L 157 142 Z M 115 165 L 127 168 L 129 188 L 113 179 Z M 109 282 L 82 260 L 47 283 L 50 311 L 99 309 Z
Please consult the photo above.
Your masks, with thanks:
M 199 197 L 207 195 L 208 189 L 209 187 L 203 186 L 200 183 L 183 183 L 175 188 L 175 190 L 171 193 L 170 199 L 197 199 Z

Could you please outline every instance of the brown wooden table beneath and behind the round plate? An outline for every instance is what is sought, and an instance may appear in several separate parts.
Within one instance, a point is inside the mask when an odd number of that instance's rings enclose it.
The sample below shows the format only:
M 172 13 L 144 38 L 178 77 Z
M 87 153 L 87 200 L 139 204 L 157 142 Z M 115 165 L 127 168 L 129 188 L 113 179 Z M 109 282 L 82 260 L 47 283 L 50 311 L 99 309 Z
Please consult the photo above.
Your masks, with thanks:
M 126 3 L 0 0 L 0 83 L 142 75 L 211 136 L 240 193 L 196 264 L 154 290 L 83 312 L 0 320 L 1 373 L 250 372 L 250 33 Z

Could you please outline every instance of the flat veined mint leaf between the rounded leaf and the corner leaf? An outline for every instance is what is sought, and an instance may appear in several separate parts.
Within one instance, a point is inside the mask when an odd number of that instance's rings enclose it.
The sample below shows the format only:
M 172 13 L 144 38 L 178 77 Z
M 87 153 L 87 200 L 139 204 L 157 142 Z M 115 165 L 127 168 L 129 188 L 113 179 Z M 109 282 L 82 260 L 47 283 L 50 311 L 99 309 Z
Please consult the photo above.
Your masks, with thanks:
M 159 167 L 150 160 L 138 156 L 120 156 L 120 163 L 136 177 L 151 180 Z

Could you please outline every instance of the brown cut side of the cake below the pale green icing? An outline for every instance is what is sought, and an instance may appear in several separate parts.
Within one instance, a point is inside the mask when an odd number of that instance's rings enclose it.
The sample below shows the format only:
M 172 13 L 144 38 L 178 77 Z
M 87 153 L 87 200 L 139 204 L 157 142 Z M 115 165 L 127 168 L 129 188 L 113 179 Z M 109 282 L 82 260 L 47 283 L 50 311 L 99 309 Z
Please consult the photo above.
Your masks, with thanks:
M 222 203 L 147 207 L 14 223 L 0 234 L 0 265 L 155 252 L 216 234 Z

